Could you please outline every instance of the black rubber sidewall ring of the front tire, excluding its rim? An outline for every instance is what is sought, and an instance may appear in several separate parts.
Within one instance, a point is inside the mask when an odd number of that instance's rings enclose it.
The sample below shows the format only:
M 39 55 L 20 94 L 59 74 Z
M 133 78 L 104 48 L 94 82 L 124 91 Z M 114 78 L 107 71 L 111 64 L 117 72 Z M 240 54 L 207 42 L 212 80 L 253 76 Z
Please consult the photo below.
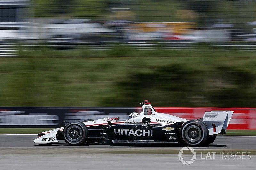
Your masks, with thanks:
M 76 142 L 70 141 L 67 137 L 67 130 L 72 125 L 79 126 L 82 129 L 82 133 L 83 133 L 81 139 Z M 89 134 L 88 128 L 85 126 L 84 123 L 79 122 L 79 121 L 70 122 L 63 129 L 63 138 L 64 138 L 65 142 L 71 146 L 80 146 L 80 145 L 84 144 L 86 142 L 86 140 L 88 139 L 88 134 Z

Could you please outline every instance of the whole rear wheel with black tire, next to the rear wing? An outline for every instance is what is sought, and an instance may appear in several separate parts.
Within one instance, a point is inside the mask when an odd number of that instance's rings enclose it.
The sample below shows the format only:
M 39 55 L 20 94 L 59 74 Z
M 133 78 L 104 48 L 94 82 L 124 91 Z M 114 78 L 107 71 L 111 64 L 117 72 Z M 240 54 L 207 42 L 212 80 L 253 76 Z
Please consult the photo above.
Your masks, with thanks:
M 200 120 L 191 120 L 181 126 L 180 139 L 185 146 L 203 146 L 207 143 L 208 137 L 208 129 Z

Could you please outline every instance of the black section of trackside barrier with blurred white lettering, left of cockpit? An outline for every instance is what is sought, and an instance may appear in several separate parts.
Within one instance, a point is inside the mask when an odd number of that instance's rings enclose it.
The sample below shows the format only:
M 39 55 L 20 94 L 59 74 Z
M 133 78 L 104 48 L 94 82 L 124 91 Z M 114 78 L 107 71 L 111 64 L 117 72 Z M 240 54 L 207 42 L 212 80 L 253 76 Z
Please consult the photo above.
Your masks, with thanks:
M 106 117 L 125 120 L 135 111 L 135 107 L 1 107 L 0 128 L 57 128 L 64 125 L 64 122 Z

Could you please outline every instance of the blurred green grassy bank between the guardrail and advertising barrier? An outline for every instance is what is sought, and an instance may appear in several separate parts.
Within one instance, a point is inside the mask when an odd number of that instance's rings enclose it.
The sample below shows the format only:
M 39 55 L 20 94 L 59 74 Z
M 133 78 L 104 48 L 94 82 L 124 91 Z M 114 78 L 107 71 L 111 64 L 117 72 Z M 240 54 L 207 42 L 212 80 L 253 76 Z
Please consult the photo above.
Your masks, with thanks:
M 0 106 L 256 107 L 253 51 L 18 47 L 0 58 Z

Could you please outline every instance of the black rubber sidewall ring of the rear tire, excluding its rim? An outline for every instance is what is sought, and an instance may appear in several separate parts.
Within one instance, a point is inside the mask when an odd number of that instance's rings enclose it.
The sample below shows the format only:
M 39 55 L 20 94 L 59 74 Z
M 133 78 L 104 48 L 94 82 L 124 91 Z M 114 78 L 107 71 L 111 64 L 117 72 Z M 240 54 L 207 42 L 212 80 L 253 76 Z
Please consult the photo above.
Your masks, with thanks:
M 191 142 L 188 141 L 187 138 L 185 137 L 185 130 L 190 126 L 190 125 L 195 125 L 197 126 L 200 130 L 201 130 L 201 134 L 202 137 L 200 137 L 196 142 Z M 182 140 L 182 142 L 186 145 L 186 146 L 202 146 L 206 143 L 207 138 L 208 138 L 208 129 L 206 127 L 206 125 L 204 124 L 204 122 L 201 122 L 199 120 L 192 120 L 192 121 L 188 121 L 185 122 L 181 129 L 180 129 L 180 139 Z

